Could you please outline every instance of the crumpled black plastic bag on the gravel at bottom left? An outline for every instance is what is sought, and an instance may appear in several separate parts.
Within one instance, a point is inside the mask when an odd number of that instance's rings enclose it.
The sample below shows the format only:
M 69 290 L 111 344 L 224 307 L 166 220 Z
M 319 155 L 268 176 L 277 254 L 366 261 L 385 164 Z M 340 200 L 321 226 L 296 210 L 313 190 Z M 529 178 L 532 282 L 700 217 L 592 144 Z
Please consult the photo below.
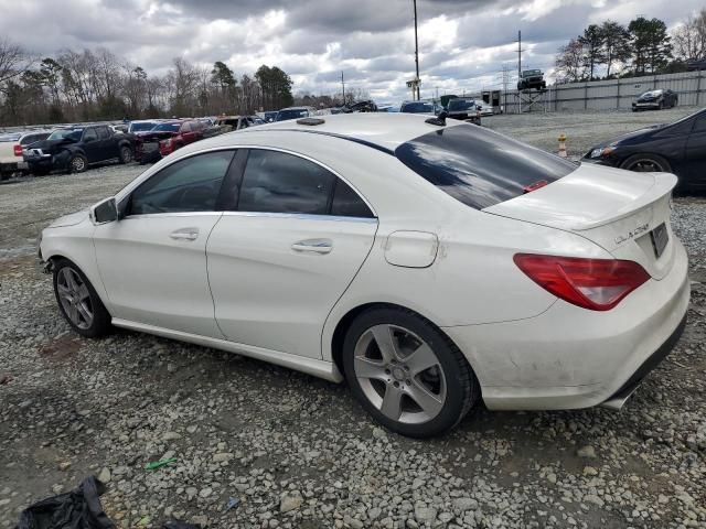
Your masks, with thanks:
M 100 505 L 105 492 L 106 486 L 95 476 L 87 477 L 71 493 L 29 506 L 15 529 L 115 529 Z

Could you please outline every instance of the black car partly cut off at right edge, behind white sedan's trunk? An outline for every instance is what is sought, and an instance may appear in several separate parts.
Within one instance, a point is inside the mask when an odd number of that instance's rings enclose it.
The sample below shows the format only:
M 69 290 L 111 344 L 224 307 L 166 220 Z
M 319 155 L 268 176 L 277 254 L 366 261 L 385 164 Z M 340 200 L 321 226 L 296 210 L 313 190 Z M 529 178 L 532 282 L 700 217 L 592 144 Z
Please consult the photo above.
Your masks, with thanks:
M 584 162 L 678 176 L 681 191 L 706 188 L 706 109 L 605 141 Z

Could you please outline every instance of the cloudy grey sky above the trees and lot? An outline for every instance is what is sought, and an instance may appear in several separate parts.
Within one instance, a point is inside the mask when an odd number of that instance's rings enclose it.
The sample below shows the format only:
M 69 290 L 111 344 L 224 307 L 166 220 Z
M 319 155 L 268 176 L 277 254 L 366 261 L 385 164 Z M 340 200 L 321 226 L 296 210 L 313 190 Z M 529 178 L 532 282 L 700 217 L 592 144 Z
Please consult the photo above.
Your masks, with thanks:
M 0 0 L 0 36 L 46 55 L 105 46 L 148 73 L 174 56 L 237 74 L 260 64 L 291 75 L 295 93 L 362 88 L 407 97 L 414 76 L 411 0 Z M 421 96 L 500 88 L 503 65 L 550 71 L 556 50 L 589 23 L 656 17 L 668 28 L 703 0 L 418 0 Z

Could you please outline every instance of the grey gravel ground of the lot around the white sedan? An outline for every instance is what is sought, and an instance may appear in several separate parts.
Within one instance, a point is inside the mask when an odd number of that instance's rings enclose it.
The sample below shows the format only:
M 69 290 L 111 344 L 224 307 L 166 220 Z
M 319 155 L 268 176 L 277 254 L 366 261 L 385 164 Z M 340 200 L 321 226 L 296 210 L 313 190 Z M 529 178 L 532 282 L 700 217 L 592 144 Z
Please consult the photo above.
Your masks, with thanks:
M 576 137 L 587 150 L 605 132 L 684 114 L 486 123 L 550 150 L 566 132 L 569 148 Z M 228 528 L 706 527 L 703 197 L 677 198 L 673 216 L 691 257 L 688 326 L 621 412 L 480 408 L 418 442 L 376 428 L 345 386 L 147 335 L 73 334 L 35 266 L 34 237 L 140 170 L 0 186 L 0 528 L 92 473 L 126 528 L 173 518 Z M 226 511 L 231 497 L 239 505 Z

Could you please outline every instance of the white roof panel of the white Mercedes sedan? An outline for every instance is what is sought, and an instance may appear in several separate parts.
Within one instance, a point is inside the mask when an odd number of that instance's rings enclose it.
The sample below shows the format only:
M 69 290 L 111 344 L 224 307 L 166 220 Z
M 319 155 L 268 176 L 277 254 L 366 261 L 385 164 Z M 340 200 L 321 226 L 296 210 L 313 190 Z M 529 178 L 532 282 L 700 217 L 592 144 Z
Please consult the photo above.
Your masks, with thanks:
M 414 114 L 360 112 L 327 115 L 320 118 L 321 125 L 300 125 L 297 120 L 277 121 L 254 129 L 244 129 L 233 134 L 264 134 L 275 131 L 301 131 L 328 134 L 354 141 L 372 143 L 395 150 L 402 143 L 427 132 L 439 130 L 439 126 L 427 123 L 429 116 Z M 448 120 L 446 127 L 463 125 L 462 121 Z M 229 134 L 224 134 L 229 136 Z

